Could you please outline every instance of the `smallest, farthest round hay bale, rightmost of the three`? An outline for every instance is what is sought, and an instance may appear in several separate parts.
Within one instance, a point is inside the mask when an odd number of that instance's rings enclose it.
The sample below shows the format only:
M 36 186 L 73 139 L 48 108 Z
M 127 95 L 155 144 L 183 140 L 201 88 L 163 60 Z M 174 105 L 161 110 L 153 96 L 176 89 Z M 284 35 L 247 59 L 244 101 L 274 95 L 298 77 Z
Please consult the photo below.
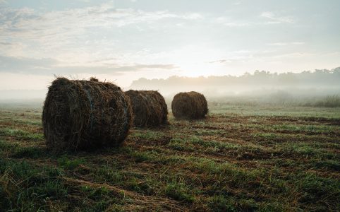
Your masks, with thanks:
M 195 91 L 177 93 L 171 102 L 171 110 L 177 119 L 200 119 L 208 112 L 205 96 Z

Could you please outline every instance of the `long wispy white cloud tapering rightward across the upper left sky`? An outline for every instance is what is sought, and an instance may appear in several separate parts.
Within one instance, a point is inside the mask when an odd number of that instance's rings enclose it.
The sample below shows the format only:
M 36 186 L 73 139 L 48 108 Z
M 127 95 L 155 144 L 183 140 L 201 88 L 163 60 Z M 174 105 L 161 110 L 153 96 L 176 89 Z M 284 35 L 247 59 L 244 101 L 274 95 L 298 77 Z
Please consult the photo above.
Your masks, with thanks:
M 200 13 L 146 12 L 132 8 L 118 9 L 113 4 L 40 13 L 31 8 L 0 9 L 1 37 L 14 35 L 28 39 L 82 33 L 86 28 L 123 27 L 138 23 L 154 23 L 166 18 L 197 20 Z

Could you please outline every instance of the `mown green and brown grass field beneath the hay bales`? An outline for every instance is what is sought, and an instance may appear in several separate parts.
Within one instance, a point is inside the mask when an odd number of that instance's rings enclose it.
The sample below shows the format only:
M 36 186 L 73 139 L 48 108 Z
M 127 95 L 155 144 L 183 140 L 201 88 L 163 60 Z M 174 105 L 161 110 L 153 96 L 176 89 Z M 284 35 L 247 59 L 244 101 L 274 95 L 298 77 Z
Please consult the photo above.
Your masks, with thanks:
M 0 211 L 339 211 L 340 109 L 210 108 L 54 153 L 41 108 L 0 107 Z

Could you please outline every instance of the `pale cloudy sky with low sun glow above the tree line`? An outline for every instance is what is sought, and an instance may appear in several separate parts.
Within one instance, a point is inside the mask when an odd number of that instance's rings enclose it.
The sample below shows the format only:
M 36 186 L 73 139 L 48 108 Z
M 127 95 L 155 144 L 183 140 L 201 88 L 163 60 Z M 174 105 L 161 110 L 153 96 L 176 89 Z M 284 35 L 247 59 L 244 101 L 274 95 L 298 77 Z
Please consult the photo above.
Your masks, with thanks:
M 0 90 L 338 66 L 339 0 L 0 0 Z

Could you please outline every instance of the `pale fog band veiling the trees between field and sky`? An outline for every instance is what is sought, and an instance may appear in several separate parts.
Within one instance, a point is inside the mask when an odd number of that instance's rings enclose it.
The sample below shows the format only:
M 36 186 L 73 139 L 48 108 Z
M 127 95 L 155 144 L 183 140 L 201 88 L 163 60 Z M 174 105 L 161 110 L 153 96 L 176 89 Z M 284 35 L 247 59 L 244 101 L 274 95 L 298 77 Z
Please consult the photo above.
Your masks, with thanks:
M 340 67 L 300 73 L 255 71 L 242 76 L 140 78 L 123 90 L 158 90 L 168 103 L 176 93 L 195 90 L 214 104 L 293 104 L 340 106 Z M 42 103 L 44 90 L 0 90 L 0 102 Z M 339 103 L 339 105 L 337 105 Z M 335 105 L 334 105 L 335 104 Z

